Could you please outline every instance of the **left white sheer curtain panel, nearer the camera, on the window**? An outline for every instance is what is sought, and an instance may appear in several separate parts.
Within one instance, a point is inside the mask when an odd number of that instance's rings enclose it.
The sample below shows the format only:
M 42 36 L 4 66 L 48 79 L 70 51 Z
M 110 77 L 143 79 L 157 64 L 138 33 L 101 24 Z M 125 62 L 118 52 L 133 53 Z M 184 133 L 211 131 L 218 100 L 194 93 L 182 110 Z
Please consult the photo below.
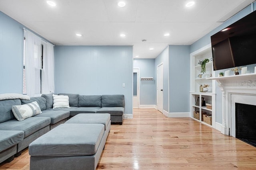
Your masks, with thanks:
M 34 97 L 40 94 L 40 45 L 41 39 L 26 30 L 25 69 L 27 95 Z

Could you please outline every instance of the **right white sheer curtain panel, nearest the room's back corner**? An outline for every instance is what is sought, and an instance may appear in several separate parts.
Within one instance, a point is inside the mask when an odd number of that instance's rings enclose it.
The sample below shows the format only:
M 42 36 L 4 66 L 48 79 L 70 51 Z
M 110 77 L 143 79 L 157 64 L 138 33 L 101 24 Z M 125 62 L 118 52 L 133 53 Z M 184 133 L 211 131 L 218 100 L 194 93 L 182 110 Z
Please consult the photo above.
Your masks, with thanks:
M 54 93 L 54 50 L 51 43 L 44 45 L 43 63 L 42 94 Z

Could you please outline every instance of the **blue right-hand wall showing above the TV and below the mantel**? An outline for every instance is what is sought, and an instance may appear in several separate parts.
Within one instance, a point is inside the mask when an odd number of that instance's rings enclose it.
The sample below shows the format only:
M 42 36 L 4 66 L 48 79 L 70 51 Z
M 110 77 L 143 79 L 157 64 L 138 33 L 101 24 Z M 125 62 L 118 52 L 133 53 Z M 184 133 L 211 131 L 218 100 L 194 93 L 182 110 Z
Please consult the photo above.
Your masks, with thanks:
M 254 10 L 255 10 L 255 6 L 256 3 L 254 2 Z M 195 43 L 193 43 L 190 46 L 190 53 L 208 45 L 211 43 L 211 39 L 210 36 L 214 35 L 215 33 L 217 33 L 218 31 L 224 29 L 225 27 L 231 25 L 232 23 L 240 20 L 241 18 L 243 18 L 244 16 L 250 14 L 252 12 L 252 7 L 251 5 L 244 8 L 242 11 L 238 12 L 236 15 L 234 15 L 232 18 L 230 18 L 229 20 L 225 21 L 222 25 L 220 25 L 219 27 L 217 27 L 216 29 L 212 30 L 210 33 L 206 34 L 204 37 L 202 37 L 201 39 L 199 39 L 198 41 L 196 41 Z M 248 70 L 252 71 L 254 68 L 253 66 L 249 66 Z M 225 69 L 227 70 L 227 69 Z M 220 71 L 225 71 L 225 70 L 218 70 L 216 71 L 216 76 L 218 75 L 218 73 Z M 222 124 L 222 93 L 220 91 L 220 88 L 218 87 L 217 83 L 216 83 L 216 122 Z

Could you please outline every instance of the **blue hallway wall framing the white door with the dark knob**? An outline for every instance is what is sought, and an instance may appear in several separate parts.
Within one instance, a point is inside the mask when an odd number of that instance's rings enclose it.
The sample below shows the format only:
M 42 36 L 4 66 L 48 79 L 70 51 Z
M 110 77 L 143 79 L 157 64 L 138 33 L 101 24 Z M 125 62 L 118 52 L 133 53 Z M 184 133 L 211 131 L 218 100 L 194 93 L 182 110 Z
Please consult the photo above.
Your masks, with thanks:
M 160 55 L 155 59 L 155 69 L 157 65 L 163 63 L 164 65 L 164 110 L 169 112 L 169 48 L 166 47 Z M 156 71 L 155 71 L 156 77 Z M 156 77 L 157 78 L 157 77 Z

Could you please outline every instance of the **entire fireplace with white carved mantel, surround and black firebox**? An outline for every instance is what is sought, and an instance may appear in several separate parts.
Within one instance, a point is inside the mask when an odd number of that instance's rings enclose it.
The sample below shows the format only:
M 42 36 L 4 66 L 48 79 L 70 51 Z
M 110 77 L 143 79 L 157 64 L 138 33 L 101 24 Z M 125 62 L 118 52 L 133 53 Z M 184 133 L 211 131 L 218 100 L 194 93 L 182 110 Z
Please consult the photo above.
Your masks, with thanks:
M 236 117 L 236 110 L 238 112 L 240 110 L 245 111 L 245 113 L 238 113 L 243 115 L 243 117 L 250 115 L 250 119 L 247 121 L 252 121 L 252 116 L 256 116 L 256 73 L 251 74 L 241 74 L 234 76 L 224 76 L 224 77 L 214 77 L 209 78 L 210 80 L 216 80 L 220 90 L 222 92 L 222 125 L 219 130 L 224 135 L 230 135 L 232 137 L 236 137 L 246 141 L 246 138 L 251 138 L 252 136 L 256 136 L 256 132 L 253 133 L 249 130 L 248 127 L 245 127 L 242 132 L 240 132 L 240 123 L 236 125 L 236 121 L 240 122 L 240 117 Z M 240 105 L 242 104 L 242 105 Z M 244 104 L 244 105 L 243 105 Z M 237 106 L 238 105 L 238 106 Z M 249 105 L 252 108 L 252 111 L 247 111 L 244 109 L 244 106 L 247 107 Z M 245 120 L 241 120 L 245 121 Z M 248 123 L 244 123 L 248 124 Z M 238 126 L 238 132 L 237 132 Z M 256 129 L 256 125 L 252 129 Z M 245 133 L 249 133 L 247 137 L 243 135 Z M 238 135 L 238 136 L 237 136 Z M 242 137 L 240 136 L 242 135 Z M 255 140 L 255 139 L 250 139 Z M 254 145 L 255 146 L 255 145 Z

